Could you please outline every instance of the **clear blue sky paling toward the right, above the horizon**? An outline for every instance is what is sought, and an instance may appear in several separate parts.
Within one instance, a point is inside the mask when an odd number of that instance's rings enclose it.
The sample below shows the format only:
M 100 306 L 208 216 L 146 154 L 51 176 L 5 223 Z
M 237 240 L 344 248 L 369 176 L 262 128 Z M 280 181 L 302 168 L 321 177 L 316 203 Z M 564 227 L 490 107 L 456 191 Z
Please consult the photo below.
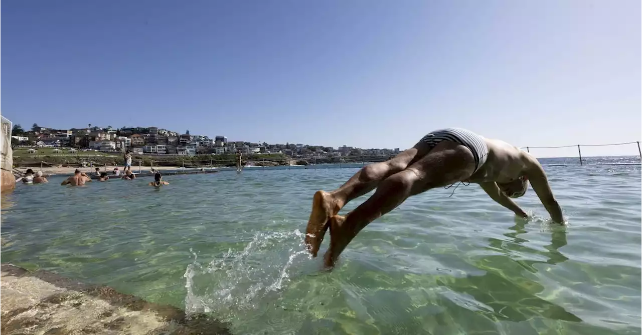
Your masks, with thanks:
M 3 1 L 0 111 L 25 128 L 334 147 L 404 149 L 449 126 L 519 146 L 638 141 L 641 12 L 634 0 Z

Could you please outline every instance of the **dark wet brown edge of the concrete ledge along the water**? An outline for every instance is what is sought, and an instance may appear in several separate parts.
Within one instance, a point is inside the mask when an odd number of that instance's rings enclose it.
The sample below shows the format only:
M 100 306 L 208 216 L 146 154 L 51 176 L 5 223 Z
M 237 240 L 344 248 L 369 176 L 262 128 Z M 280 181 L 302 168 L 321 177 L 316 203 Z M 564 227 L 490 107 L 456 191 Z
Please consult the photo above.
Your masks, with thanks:
M 211 316 L 205 314 L 187 316 L 185 311 L 178 307 L 147 302 L 134 295 L 120 293 L 109 286 L 84 284 L 45 270 L 29 272 L 11 263 L 0 263 L 0 272 L 6 272 L 6 275 L 13 277 L 35 277 L 58 288 L 78 291 L 91 297 L 100 298 L 109 302 L 112 306 L 125 307 L 130 311 L 152 311 L 166 322 L 174 322 L 186 327 L 189 329 L 189 334 L 232 334 L 229 330 L 229 324 L 215 320 Z

